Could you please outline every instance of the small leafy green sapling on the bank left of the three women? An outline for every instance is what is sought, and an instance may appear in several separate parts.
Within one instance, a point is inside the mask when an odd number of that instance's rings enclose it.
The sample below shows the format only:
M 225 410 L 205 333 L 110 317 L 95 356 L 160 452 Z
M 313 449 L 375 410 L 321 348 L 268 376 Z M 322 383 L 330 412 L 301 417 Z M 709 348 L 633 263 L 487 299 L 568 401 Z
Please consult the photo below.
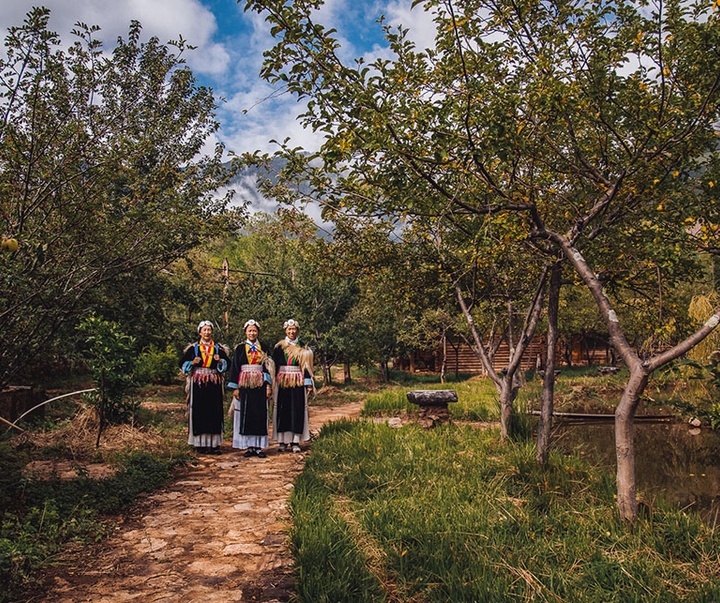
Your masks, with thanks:
M 100 418 L 100 434 L 108 423 L 129 421 L 139 405 L 133 398 L 137 351 L 135 340 L 120 325 L 90 316 L 78 326 L 85 345 L 82 355 L 92 371 L 96 391 L 86 394 Z

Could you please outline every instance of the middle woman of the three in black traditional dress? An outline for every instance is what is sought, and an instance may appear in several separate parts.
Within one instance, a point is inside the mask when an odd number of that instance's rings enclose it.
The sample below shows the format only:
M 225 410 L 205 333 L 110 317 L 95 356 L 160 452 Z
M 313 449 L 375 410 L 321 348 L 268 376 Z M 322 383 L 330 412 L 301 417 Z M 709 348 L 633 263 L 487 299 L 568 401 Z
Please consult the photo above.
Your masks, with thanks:
M 268 406 L 272 393 L 273 362 L 266 346 L 258 341 L 260 325 L 245 323 L 246 340 L 235 348 L 228 388 L 233 391 L 230 412 L 233 415 L 233 448 L 246 448 L 245 457 L 267 455 Z

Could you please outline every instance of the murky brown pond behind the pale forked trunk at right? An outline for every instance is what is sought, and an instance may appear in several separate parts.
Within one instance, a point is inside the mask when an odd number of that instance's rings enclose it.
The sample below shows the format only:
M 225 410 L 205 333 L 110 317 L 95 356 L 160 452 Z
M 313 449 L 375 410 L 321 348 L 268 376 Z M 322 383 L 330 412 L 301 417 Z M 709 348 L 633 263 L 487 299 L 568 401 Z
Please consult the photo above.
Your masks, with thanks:
M 553 446 L 615 472 L 613 422 L 556 423 Z M 635 470 L 642 500 L 695 509 L 720 525 L 720 434 L 684 423 L 636 423 Z

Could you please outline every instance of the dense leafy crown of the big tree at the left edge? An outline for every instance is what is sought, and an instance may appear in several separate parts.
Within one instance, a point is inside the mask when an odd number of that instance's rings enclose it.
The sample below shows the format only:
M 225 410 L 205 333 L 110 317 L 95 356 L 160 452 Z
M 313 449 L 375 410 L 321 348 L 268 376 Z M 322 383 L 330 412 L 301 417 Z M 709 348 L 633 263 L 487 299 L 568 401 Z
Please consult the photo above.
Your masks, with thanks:
M 215 195 L 222 149 L 200 154 L 215 101 L 185 41 L 142 42 L 132 22 L 104 49 L 77 24 L 68 48 L 49 18 L 9 28 L 0 59 L 0 234 L 19 241 L 0 257 L 0 384 L 65 357 L 90 311 L 163 324 L 158 271 L 238 223 Z

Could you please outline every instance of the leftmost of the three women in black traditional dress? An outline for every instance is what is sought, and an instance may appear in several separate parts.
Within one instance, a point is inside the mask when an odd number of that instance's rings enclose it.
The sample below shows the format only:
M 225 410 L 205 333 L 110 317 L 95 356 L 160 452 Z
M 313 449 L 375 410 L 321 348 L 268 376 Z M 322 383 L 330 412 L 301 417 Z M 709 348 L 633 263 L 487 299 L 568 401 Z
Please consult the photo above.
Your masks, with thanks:
M 225 348 L 213 341 L 213 324 L 198 325 L 200 341 L 191 343 L 180 362 L 187 376 L 188 444 L 198 452 L 220 454 L 223 440 L 223 375 L 228 367 Z

